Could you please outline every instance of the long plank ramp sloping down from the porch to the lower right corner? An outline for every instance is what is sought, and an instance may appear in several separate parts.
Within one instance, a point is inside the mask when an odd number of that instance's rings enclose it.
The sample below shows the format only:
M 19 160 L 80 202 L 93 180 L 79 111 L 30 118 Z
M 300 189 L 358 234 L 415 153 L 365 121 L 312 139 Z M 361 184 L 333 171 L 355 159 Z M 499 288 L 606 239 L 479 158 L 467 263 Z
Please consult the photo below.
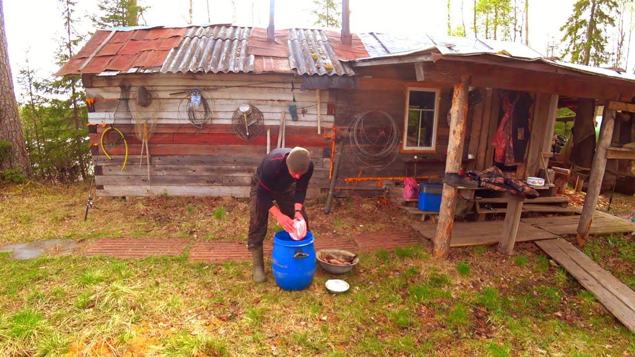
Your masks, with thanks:
M 635 332 L 635 292 L 602 269 L 566 239 L 535 242 L 545 253 L 576 278 L 584 288 L 598 297 L 608 311 L 625 327 Z

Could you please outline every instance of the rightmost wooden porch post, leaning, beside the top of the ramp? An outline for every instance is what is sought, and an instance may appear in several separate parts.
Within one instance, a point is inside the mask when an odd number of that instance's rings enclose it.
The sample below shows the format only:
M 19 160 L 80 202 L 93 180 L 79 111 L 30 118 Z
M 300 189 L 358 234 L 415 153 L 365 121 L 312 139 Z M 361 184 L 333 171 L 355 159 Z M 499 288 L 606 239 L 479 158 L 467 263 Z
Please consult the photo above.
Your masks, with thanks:
M 608 104 L 608 103 L 607 103 Z M 584 199 L 584 208 L 578 223 L 578 245 L 583 246 L 589 237 L 593 213 L 598 205 L 599 190 L 606 168 L 606 148 L 611 145 L 613 128 L 615 127 L 615 109 L 608 109 L 605 105 L 602 113 L 602 125 L 599 130 L 599 140 L 596 146 L 596 153 L 591 165 L 591 175 L 589 175 L 589 185 L 587 187 L 587 197 Z

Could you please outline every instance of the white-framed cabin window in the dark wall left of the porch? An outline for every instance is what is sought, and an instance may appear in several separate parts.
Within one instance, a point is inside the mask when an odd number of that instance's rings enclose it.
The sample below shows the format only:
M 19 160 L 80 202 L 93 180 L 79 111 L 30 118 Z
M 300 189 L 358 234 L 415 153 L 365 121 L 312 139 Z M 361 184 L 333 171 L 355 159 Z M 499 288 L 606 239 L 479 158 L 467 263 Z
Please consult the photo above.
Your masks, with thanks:
M 439 90 L 408 88 L 404 118 L 404 150 L 434 150 L 436 144 Z

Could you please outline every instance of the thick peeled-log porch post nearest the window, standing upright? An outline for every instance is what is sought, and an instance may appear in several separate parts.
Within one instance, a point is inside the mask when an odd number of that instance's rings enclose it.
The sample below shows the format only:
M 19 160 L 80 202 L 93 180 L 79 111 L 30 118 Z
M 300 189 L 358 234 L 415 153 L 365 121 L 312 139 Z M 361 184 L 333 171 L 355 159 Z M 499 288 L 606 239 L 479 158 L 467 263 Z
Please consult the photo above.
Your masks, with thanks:
M 445 163 L 445 172 L 457 173 L 461 167 L 461 148 L 465 138 L 465 117 L 467 116 L 467 87 L 470 77 L 461 76 L 461 83 L 455 84 L 450 109 L 450 140 L 448 141 L 448 157 Z M 457 187 L 443 184 L 441 194 L 441 210 L 439 210 L 439 222 L 437 224 L 436 237 L 434 238 L 434 255 L 447 257 L 452 239 L 452 224 L 454 212 L 457 208 Z

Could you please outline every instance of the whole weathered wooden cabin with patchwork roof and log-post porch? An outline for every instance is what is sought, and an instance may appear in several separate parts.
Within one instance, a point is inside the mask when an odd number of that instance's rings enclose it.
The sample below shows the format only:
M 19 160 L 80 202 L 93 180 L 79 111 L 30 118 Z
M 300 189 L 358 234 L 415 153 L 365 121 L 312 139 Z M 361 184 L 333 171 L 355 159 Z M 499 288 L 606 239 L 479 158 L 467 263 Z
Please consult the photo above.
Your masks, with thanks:
M 57 75 L 83 80 L 97 196 L 246 197 L 256 166 L 279 145 L 311 151 L 309 196 L 326 194 L 331 179 L 340 191 L 370 193 L 405 177 L 483 170 L 494 163 L 491 143 L 509 95 L 524 95 L 530 104 L 525 150 L 511 168 L 524 179 L 548 165 L 561 102 L 591 98 L 604 105 L 605 120 L 578 229 L 584 239 L 607 156 L 634 159 L 610 143 L 615 113 L 635 112 L 635 76 L 546 58 L 519 43 L 351 34 L 347 15 L 343 20 L 341 32 L 276 30 L 272 20 L 267 29 L 95 32 Z M 147 107 L 139 100 L 144 91 Z M 201 105 L 190 107 L 199 95 Z M 256 119 L 241 114 L 245 106 Z M 121 131 L 125 144 L 110 128 Z M 333 178 L 338 140 L 343 158 Z M 448 251 L 460 196 L 471 199 L 473 192 L 444 185 L 439 255 Z M 503 252 L 513 248 L 521 208 L 508 205 Z

